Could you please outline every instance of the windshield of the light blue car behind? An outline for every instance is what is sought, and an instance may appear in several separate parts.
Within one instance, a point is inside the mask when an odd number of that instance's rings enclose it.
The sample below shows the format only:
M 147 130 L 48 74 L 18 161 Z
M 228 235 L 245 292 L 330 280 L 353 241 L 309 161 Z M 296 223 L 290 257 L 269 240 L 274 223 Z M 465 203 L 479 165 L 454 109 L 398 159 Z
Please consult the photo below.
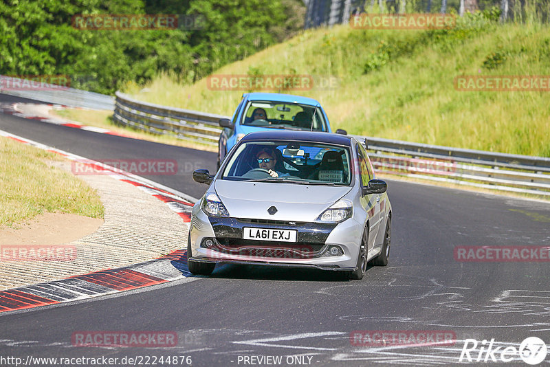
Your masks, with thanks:
M 327 131 L 320 107 L 288 102 L 248 102 L 241 124 L 271 129 Z

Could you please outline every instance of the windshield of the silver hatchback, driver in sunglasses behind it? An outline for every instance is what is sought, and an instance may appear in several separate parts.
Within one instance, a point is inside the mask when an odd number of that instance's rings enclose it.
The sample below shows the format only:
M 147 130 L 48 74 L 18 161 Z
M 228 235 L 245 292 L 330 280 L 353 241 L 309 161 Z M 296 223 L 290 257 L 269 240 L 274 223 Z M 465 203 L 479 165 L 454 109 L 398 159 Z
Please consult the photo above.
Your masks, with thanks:
M 347 146 L 296 141 L 248 142 L 241 144 L 230 157 L 221 179 L 347 186 L 351 182 L 349 162 Z

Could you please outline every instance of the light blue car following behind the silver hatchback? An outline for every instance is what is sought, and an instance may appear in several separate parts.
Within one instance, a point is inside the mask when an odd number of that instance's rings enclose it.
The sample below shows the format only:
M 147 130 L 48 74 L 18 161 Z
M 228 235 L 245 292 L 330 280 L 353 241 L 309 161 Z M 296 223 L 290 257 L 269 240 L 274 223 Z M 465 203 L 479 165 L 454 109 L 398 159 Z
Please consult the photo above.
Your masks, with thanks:
M 223 127 L 218 143 L 218 162 L 246 134 L 268 129 L 321 131 L 331 133 L 327 113 L 313 98 L 281 93 L 244 93 L 231 120 L 219 120 Z M 346 134 L 338 129 L 336 133 Z

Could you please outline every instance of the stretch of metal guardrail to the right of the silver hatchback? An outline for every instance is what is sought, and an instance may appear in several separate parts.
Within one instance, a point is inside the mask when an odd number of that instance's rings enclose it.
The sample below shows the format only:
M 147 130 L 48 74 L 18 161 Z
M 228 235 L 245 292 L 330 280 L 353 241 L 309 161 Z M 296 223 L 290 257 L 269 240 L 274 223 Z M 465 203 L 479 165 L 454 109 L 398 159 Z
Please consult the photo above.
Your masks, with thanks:
M 365 137 L 354 135 L 363 140 Z M 390 174 L 550 196 L 550 158 L 366 137 L 373 166 Z

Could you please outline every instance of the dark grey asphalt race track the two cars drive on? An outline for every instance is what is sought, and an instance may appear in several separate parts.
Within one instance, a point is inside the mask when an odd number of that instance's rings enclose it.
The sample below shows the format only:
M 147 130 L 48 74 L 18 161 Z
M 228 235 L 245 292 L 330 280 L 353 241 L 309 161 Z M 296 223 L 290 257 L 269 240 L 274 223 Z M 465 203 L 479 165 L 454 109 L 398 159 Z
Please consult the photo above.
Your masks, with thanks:
M 0 95 L 0 102 L 18 100 Z M 91 159 L 177 159 L 178 175 L 147 178 L 192 197 L 206 190 L 192 181 L 192 170 L 213 172 L 216 164 L 215 153 L 11 115 L 0 115 L 0 129 Z M 549 204 L 399 181 L 388 181 L 388 194 L 390 263 L 371 267 L 363 280 L 316 270 L 225 265 L 192 282 L 2 313 L 0 356 L 120 361 L 189 355 L 192 366 L 426 366 L 459 364 L 468 338 L 480 344 L 494 339 L 493 349 L 501 347 L 497 358 L 526 337 L 550 342 L 548 262 L 454 259 L 455 246 L 550 246 Z M 350 338 L 353 331 L 405 330 L 454 333 L 456 343 L 369 347 Z M 72 335 L 83 331 L 170 331 L 179 342 L 171 348 L 72 346 Z M 274 359 L 266 356 L 281 356 L 281 363 L 269 364 Z M 509 365 L 527 366 L 512 357 Z M 483 358 L 470 364 L 485 364 Z M 186 360 L 177 365 L 186 366 Z

